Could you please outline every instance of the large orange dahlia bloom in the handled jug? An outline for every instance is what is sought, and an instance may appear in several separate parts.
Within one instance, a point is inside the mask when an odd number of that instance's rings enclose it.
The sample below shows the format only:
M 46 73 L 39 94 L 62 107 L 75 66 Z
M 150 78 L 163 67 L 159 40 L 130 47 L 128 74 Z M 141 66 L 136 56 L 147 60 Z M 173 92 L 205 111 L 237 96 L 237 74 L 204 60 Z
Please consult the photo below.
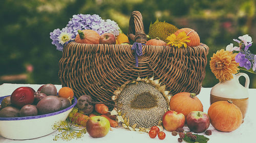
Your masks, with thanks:
M 221 49 L 210 58 L 211 72 L 220 82 L 230 80 L 233 78 L 232 74 L 238 73 L 239 63 L 234 60 L 236 55 L 237 53 Z

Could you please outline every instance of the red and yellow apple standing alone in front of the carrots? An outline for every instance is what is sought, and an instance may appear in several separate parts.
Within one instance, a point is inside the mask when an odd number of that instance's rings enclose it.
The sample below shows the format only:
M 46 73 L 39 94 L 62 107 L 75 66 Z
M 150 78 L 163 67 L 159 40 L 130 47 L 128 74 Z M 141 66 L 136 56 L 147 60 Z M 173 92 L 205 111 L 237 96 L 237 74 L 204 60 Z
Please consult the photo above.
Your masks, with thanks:
M 110 122 L 105 117 L 94 116 L 87 121 L 86 130 L 94 138 L 103 137 L 110 130 Z

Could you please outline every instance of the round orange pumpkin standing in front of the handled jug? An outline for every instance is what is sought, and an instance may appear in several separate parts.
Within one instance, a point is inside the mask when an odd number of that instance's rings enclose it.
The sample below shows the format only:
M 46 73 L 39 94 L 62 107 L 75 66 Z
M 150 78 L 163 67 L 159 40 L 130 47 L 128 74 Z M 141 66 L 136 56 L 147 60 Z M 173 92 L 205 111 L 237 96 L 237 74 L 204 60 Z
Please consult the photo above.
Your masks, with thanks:
M 232 101 L 218 101 L 208 109 L 210 123 L 217 130 L 230 132 L 236 130 L 243 120 L 242 112 Z

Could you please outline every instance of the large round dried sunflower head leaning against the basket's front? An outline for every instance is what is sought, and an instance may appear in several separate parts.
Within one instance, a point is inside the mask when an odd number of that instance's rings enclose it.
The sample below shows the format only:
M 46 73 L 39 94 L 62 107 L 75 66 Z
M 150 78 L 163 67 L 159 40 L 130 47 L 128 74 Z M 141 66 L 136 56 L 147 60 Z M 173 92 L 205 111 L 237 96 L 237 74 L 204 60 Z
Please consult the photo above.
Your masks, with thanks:
M 114 92 L 112 99 L 123 126 L 143 131 L 161 125 L 162 117 L 168 109 L 168 93 L 165 85 L 160 86 L 159 80 L 138 78 L 124 83 Z

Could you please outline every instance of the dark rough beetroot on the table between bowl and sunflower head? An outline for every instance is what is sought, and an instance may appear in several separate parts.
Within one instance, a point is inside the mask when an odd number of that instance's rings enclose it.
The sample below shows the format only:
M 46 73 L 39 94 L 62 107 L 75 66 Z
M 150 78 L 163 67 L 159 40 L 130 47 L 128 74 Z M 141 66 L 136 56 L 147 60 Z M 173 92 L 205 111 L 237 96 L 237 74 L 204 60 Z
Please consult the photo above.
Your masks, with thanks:
M 85 114 L 90 114 L 93 112 L 92 98 L 89 95 L 82 95 L 77 100 L 77 108 L 82 110 Z

